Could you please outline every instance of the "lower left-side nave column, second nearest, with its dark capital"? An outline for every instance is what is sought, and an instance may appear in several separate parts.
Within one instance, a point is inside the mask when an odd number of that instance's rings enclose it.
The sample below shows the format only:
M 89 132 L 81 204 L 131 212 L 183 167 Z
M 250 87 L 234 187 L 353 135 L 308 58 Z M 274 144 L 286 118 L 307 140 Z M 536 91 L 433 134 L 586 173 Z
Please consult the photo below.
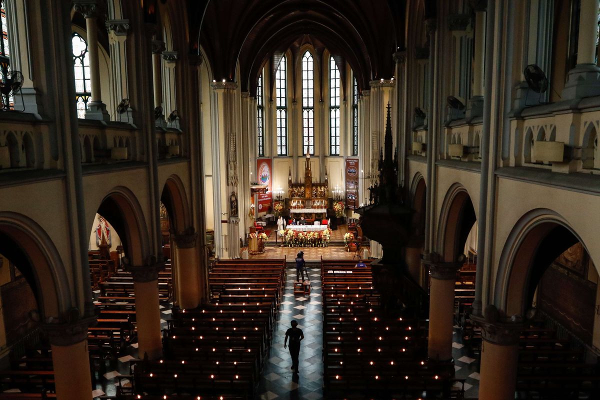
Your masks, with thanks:
M 164 269 L 164 263 L 126 266 L 125 269 L 133 275 L 139 356 L 142 358 L 147 353 L 149 359 L 158 359 L 163 355 L 158 305 L 158 271 Z

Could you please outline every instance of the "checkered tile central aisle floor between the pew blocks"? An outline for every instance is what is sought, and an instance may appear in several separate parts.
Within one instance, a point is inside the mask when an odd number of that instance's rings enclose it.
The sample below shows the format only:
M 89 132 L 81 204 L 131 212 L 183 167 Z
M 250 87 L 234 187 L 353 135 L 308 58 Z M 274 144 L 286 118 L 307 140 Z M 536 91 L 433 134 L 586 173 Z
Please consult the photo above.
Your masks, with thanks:
M 323 398 L 323 313 L 321 303 L 321 278 L 318 265 L 308 265 L 312 285 L 310 296 L 294 296 L 293 282 L 296 269 L 288 266 L 287 286 L 281 302 L 280 317 L 274 330 L 271 350 L 265 362 L 259 384 L 259 398 L 318 400 Z M 299 356 L 299 374 L 293 375 L 292 359 L 283 348 L 286 330 L 292 320 L 304 333 Z

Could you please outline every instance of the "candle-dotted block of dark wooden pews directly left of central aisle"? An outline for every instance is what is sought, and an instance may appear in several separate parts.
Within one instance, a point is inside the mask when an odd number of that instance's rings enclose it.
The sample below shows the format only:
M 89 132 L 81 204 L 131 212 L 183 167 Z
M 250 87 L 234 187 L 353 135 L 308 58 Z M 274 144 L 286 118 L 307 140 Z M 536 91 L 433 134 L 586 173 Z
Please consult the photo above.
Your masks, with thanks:
M 216 261 L 209 270 L 211 302 L 174 308 L 163 334 L 163 359 L 131 362 L 134 395 L 253 398 L 277 320 L 285 266 L 285 259 Z

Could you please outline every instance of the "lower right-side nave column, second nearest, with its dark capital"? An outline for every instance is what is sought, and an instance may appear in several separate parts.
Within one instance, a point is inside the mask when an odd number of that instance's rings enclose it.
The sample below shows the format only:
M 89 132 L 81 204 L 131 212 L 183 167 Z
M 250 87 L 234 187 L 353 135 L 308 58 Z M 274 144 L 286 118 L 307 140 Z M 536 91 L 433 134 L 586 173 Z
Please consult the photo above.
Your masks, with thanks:
M 452 359 L 452 327 L 454 326 L 454 285 L 457 270 L 464 263 L 464 254 L 455 262 L 443 262 L 443 257 L 430 252 L 423 264 L 429 267 L 429 341 L 427 354 L 431 360 Z

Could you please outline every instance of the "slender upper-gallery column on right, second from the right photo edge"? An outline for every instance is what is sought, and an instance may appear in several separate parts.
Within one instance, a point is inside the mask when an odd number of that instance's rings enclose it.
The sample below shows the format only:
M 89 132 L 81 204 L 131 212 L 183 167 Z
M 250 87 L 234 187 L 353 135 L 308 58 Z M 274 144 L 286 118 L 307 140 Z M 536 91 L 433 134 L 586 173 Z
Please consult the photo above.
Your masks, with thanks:
M 466 118 L 484 114 L 485 24 L 487 0 L 475 4 L 475 54 L 473 55 L 473 88 L 467 104 Z

